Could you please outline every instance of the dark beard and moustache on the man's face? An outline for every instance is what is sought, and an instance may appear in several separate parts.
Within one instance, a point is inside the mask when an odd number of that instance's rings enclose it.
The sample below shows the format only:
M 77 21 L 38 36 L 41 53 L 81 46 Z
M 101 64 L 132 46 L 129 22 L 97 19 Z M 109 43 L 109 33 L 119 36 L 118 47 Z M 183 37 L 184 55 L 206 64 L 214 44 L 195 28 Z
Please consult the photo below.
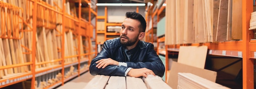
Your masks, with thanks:
M 122 36 L 126 37 L 128 41 L 124 42 L 124 40 L 121 40 Z M 138 37 L 139 37 L 139 35 L 137 35 L 134 39 L 130 39 L 126 35 L 122 35 L 122 36 L 119 37 L 121 44 L 123 44 L 124 46 L 128 46 L 128 47 L 134 45 L 137 42 Z

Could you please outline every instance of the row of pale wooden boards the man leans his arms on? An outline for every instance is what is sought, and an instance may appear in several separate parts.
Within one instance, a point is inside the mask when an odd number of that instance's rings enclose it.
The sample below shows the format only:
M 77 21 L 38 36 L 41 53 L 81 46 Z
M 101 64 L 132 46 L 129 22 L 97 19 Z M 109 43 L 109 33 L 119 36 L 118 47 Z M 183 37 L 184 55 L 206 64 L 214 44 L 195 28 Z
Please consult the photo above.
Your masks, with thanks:
M 172 89 L 159 76 L 147 78 L 96 75 L 83 89 Z

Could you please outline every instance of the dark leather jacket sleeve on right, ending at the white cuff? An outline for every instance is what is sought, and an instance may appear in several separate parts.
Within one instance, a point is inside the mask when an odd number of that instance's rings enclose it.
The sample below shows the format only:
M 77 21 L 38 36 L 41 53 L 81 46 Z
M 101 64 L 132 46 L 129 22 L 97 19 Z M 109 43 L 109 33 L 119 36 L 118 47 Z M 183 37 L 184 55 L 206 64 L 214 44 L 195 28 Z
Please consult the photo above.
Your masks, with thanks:
M 155 52 L 153 44 L 149 45 L 144 62 L 127 62 L 127 67 L 132 67 L 135 69 L 147 68 L 152 70 L 155 73 L 155 75 L 160 77 L 164 76 L 165 71 L 164 64 L 157 55 L 157 53 Z

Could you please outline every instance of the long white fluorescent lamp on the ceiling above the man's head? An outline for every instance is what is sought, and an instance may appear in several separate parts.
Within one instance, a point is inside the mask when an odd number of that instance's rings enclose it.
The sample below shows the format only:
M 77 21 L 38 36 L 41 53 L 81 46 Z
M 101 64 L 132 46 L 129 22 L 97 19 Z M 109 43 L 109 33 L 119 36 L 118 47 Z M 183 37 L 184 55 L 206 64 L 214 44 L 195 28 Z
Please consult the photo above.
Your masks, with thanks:
M 145 6 L 145 3 L 97 3 L 97 6 Z

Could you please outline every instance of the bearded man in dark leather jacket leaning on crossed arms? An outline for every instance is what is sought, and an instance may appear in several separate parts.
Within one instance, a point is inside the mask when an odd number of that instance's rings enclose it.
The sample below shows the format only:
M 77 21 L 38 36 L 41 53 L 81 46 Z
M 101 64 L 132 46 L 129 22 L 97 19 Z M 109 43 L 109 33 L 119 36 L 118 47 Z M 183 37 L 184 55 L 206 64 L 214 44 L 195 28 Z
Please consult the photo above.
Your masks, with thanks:
M 106 40 L 92 60 L 91 75 L 163 77 L 165 67 L 154 45 L 141 41 L 146 30 L 144 17 L 136 12 L 126 12 L 121 27 L 120 37 Z

